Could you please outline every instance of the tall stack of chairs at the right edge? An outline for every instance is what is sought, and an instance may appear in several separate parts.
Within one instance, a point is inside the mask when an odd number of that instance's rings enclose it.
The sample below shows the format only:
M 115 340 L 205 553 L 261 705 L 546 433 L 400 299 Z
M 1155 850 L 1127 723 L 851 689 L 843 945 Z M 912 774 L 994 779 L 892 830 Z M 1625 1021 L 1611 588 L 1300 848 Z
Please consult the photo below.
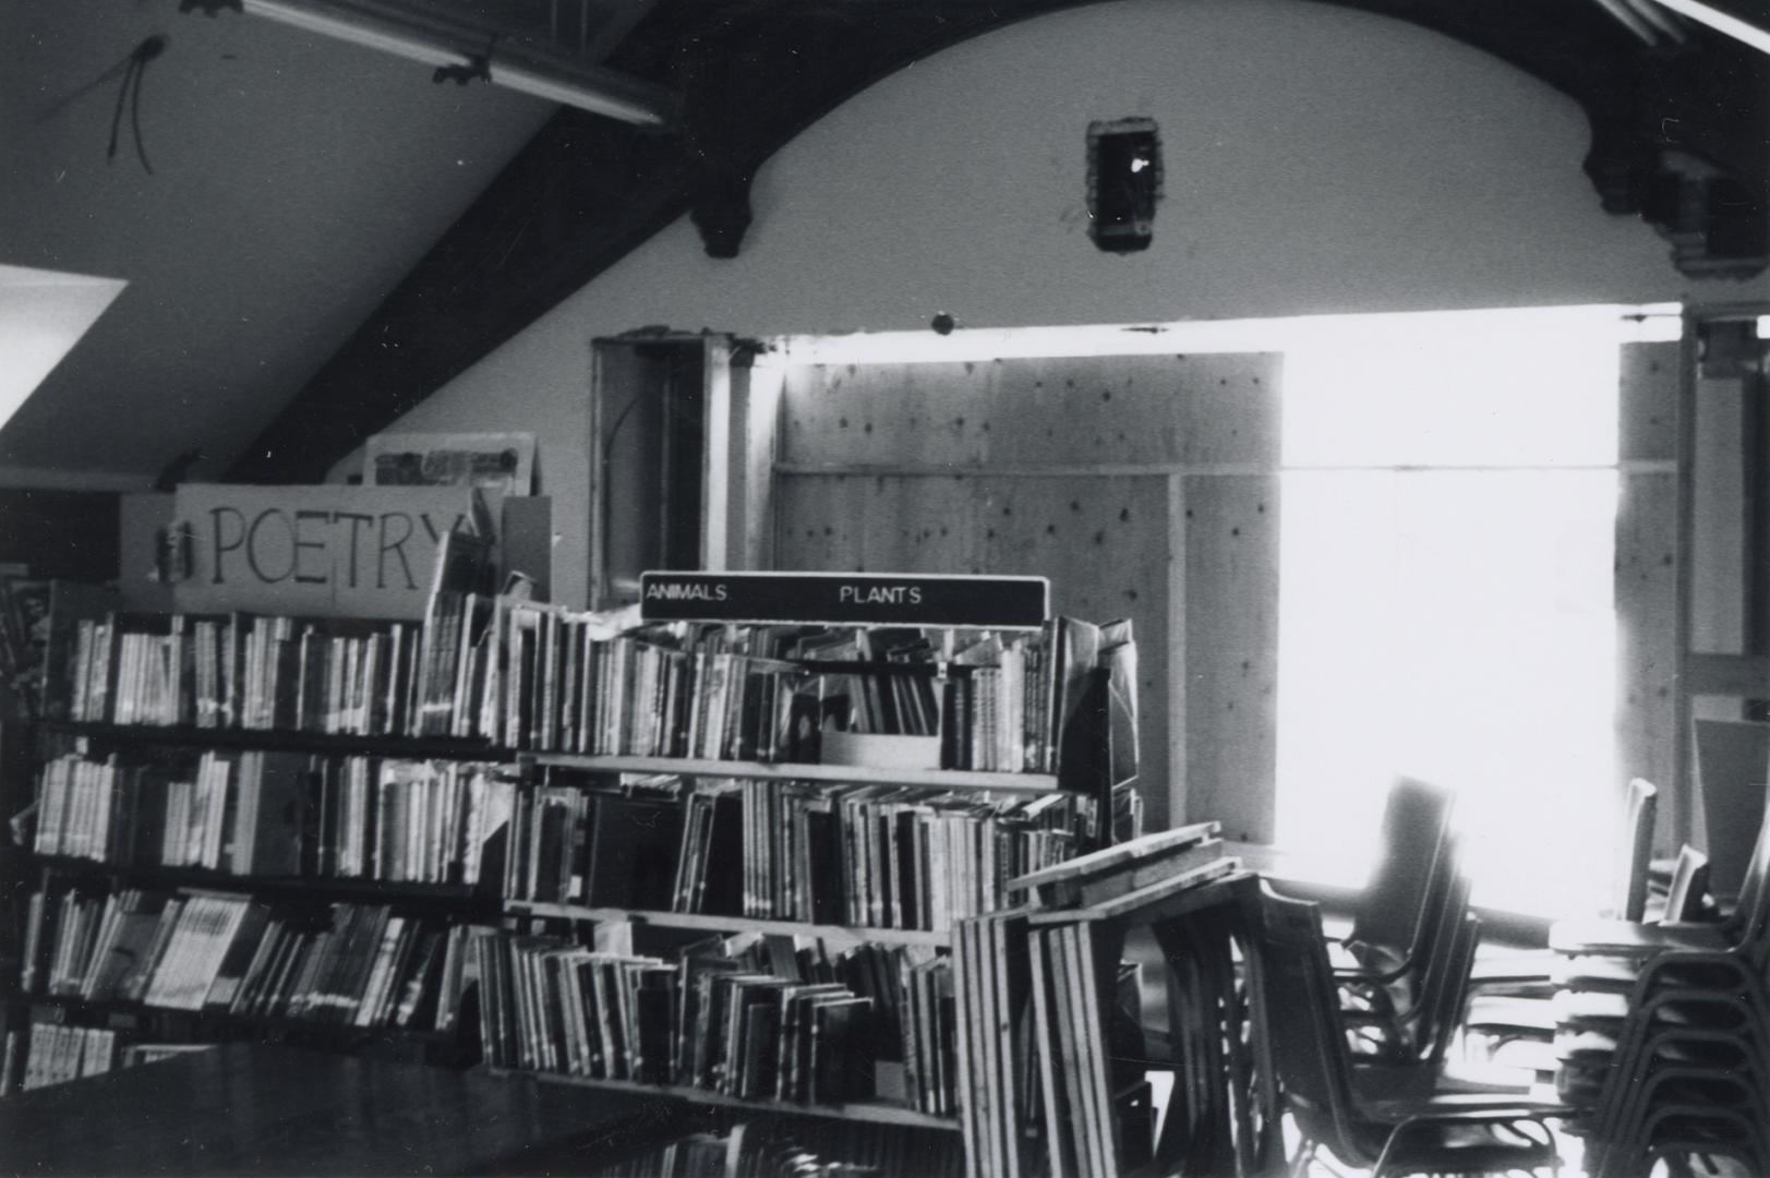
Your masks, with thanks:
M 1696 852 L 1680 856 L 1687 914 Z M 1694 864 L 1694 868 L 1692 868 Z M 1770 817 L 1733 912 L 1715 923 L 1563 921 L 1556 1056 L 1595 1178 L 1648 1174 L 1657 1159 L 1731 1159 L 1770 1174 Z M 1713 1171 L 1712 1171 L 1713 1173 Z

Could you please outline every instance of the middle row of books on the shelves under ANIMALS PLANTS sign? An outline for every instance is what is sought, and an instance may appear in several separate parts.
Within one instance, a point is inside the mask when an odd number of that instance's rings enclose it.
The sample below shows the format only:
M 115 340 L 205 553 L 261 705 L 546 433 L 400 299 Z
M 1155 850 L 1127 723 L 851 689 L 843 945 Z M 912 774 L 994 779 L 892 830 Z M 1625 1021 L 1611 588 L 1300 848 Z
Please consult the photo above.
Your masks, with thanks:
M 1092 811 L 1067 792 L 674 774 L 620 792 L 543 785 L 513 811 L 506 895 L 940 932 L 1074 856 Z

